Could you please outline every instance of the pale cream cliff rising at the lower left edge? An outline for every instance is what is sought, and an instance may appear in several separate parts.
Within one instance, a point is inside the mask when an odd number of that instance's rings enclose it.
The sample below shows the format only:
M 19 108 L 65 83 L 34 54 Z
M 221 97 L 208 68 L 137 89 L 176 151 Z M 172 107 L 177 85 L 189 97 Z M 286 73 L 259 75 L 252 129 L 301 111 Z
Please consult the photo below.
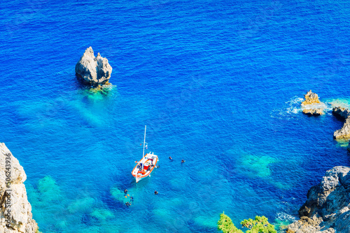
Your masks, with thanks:
M 27 200 L 25 170 L 4 143 L 0 143 L 0 232 L 35 233 L 38 225 Z

